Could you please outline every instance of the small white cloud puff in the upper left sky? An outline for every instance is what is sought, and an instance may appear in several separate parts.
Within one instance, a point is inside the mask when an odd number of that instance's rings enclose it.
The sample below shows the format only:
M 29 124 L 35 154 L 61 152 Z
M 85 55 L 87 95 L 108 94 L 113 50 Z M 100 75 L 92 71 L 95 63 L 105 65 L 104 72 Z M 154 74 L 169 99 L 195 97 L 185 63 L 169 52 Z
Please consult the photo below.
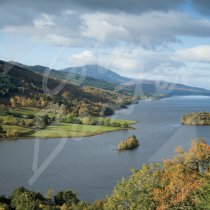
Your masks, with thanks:
M 53 21 L 53 16 L 48 14 L 41 14 L 38 19 L 33 20 L 34 26 L 38 29 L 55 26 L 55 22 Z

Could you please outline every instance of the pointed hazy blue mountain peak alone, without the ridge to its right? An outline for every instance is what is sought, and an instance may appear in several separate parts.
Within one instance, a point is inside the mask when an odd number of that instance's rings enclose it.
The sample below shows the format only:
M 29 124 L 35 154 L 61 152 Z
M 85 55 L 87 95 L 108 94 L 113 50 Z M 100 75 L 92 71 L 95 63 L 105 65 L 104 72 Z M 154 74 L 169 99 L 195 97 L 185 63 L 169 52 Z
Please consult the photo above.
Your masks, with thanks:
M 62 69 L 61 71 L 79 74 L 82 76 L 91 76 L 92 78 L 104 80 L 106 82 L 115 84 L 122 84 L 131 80 L 97 64 L 70 67 Z

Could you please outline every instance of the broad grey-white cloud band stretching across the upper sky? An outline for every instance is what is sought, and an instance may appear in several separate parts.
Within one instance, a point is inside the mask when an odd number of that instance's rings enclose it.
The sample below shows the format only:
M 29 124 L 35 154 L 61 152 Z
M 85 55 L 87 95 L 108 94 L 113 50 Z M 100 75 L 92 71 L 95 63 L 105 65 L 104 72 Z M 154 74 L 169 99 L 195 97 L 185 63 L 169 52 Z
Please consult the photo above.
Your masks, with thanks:
M 56 26 L 56 27 L 54 27 Z M 40 40 L 47 34 L 71 38 L 71 45 L 81 47 L 104 44 L 118 46 L 122 42 L 141 45 L 146 49 L 164 48 L 180 36 L 209 37 L 210 20 L 193 18 L 183 12 L 76 13 L 63 10 L 57 16 L 41 14 L 32 24 L 8 25 L 5 32 L 24 33 Z M 55 44 L 57 45 L 57 39 Z M 53 42 L 52 42 L 53 43 Z M 65 42 L 61 42 L 63 45 Z M 69 46 L 69 42 L 66 42 Z

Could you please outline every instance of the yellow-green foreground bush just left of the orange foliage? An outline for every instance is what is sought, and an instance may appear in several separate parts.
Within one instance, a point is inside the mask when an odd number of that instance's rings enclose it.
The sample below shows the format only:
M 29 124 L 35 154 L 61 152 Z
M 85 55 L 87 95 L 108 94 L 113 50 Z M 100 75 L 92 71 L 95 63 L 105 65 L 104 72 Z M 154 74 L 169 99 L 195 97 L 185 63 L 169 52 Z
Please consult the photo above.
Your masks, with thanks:
M 156 187 L 153 172 L 159 170 L 158 164 L 143 165 L 141 170 L 133 171 L 132 176 L 122 179 L 104 204 L 105 210 L 148 210 L 155 209 L 152 191 Z

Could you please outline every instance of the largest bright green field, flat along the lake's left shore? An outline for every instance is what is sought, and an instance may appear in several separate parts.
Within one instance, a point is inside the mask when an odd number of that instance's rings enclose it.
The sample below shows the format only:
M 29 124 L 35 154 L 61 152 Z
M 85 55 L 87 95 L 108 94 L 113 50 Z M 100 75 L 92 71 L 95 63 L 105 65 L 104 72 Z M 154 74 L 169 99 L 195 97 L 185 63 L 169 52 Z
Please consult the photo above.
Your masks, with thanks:
M 44 130 L 39 130 L 30 135 L 30 137 L 37 137 L 37 138 L 85 137 L 85 136 L 92 136 L 117 130 L 122 130 L 122 128 L 60 123 L 59 125 L 52 125 L 48 126 Z

